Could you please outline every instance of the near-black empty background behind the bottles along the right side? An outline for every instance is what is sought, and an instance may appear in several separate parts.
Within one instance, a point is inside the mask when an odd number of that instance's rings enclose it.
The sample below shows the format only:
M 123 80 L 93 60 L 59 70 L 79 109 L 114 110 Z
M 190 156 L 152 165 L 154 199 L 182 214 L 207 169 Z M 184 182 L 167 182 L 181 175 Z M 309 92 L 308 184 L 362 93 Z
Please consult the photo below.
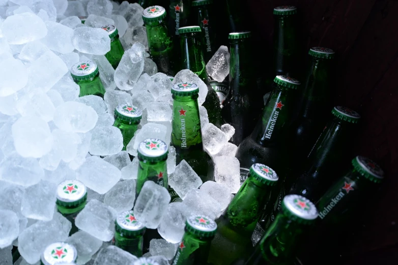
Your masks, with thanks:
M 213 1 L 220 28 L 224 28 L 227 24 L 225 0 Z M 164 2 L 160 0 L 159 5 L 166 5 Z M 357 224 L 360 233 L 354 239 L 347 238 L 350 255 L 342 257 L 338 263 L 397 264 L 398 1 L 241 2 L 246 7 L 243 12 L 247 15 L 256 46 L 253 59 L 263 61 L 264 71 L 271 58 L 272 10 L 276 6 L 298 7 L 303 67 L 311 47 L 321 46 L 336 51 L 334 105 L 349 107 L 362 116 L 360 134 L 347 148 L 354 148 L 358 155 L 375 160 L 386 173 L 381 192 L 368 194 L 371 203 L 368 213 Z M 154 3 L 157 4 L 156 1 Z M 336 174 L 338 172 L 336 165 Z M 342 241 L 346 239 L 342 238 Z M 320 257 L 319 264 L 327 259 Z

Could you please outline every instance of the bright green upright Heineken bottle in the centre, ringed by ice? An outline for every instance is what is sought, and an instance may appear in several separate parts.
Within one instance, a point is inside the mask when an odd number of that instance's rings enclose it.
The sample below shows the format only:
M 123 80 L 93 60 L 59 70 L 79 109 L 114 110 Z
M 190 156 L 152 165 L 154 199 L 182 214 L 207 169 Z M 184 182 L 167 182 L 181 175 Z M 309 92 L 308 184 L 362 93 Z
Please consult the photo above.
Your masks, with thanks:
M 213 160 L 203 150 L 198 92 L 194 83 L 172 87 L 172 145 L 176 148 L 177 164 L 185 159 L 203 182 L 214 181 Z

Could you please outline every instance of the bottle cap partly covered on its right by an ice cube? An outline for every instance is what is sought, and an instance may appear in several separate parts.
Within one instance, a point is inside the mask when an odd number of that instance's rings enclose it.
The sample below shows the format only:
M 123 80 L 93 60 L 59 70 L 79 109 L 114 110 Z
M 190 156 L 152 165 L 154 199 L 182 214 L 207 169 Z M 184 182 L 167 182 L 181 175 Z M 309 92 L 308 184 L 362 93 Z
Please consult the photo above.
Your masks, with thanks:
M 115 224 L 115 229 L 126 236 L 143 235 L 145 232 L 144 224 L 135 219 L 132 210 L 121 212 L 116 218 Z

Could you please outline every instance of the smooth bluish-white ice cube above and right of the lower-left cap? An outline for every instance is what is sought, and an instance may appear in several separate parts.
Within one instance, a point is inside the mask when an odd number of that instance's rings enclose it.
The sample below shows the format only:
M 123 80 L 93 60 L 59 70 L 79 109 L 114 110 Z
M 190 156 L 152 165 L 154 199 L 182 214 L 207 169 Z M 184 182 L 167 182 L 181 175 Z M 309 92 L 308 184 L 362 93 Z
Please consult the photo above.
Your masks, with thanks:
M 120 170 L 98 156 L 90 156 L 77 171 L 76 179 L 87 187 L 104 194 L 120 180 Z

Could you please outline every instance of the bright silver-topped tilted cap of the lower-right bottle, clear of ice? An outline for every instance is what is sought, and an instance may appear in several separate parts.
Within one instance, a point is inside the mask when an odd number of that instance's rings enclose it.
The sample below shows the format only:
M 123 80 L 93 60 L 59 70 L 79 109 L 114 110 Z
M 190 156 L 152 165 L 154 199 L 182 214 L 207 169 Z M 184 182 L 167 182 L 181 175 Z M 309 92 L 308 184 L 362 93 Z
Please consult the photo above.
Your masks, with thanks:
M 283 212 L 294 221 L 311 223 L 318 217 L 318 210 L 306 197 L 289 194 L 282 201 Z

